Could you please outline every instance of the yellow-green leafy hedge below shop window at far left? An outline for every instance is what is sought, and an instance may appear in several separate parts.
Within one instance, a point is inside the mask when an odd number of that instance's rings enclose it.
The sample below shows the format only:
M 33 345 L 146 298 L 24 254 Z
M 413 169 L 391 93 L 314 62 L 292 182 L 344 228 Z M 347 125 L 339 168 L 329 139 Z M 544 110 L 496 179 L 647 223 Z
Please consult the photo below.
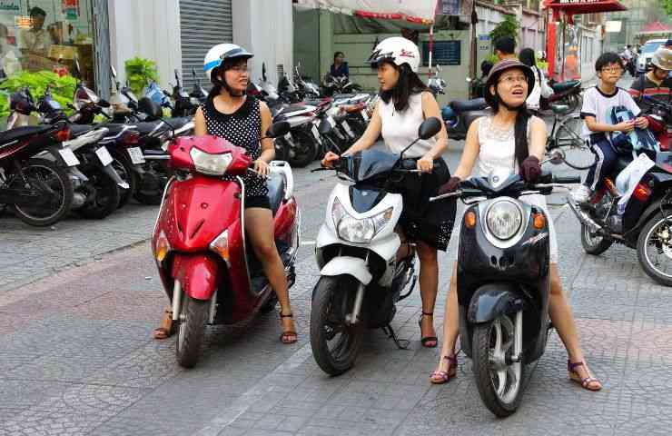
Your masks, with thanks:
M 64 108 L 67 107 L 68 103 L 73 103 L 77 79 L 72 75 L 59 76 L 50 71 L 37 73 L 24 71 L 10 76 L 0 84 L 0 118 L 5 118 L 9 114 L 9 97 L 12 93 L 27 87 L 33 94 L 35 103 L 37 103 L 47 86 L 50 87 L 54 100 Z M 66 112 L 69 111 L 66 109 Z

